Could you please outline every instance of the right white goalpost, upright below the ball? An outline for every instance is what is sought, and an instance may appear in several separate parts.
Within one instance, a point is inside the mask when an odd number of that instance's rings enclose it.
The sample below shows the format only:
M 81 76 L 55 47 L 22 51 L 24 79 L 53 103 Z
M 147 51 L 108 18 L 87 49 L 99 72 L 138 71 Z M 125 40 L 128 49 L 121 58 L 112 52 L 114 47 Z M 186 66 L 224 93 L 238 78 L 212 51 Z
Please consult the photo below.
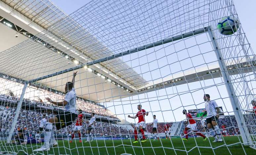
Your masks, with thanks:
M 217 42 L 214 38 L 214 35 L 212 34 L 212 31 L 211 31 L 210 28 L 208 29 L 208 34 L 210 36 L 210 41 L 211 41 L 213 50 L 215 51 L 215 54 L 216 54 L 217 59 L 218 59 L 218 63 L 219 63 L 219 66 L 220 66 L 220 71 L 221 71 L 221 74 L 222 74 L 222 78 L 224 79 L 224 83 L 225 83 L 226 89 L 228 91 L 229 99 L 230 99 L 233 111 L 235 113 L 235 119 L 236 119 L 236 122 L 237 122 L 238 129 L 240 131 L 243 143 L 245 145 L 247 145 L 247 143 L 249 142 L 250 135 L 249 135 L 249 132 L 247 130 L 246 123 L 245 123 L 245 120 L 244 120 L 244 117 L 243 117 L 243 114 L 242 114 L 242 109 L 240 107 L 240 102 L 234 94 L 235 91 L 234 91 L 234 87 L 233 87 L 232 83 L 229 82 L 231 80 L 229 78 L 229 75 L 227 75 L 228 74 L 227 73 L 228 72 L 227 71 L 227 66 L 222 61 L 220 50 L 217 46 L 218 44 L 217 44 Z

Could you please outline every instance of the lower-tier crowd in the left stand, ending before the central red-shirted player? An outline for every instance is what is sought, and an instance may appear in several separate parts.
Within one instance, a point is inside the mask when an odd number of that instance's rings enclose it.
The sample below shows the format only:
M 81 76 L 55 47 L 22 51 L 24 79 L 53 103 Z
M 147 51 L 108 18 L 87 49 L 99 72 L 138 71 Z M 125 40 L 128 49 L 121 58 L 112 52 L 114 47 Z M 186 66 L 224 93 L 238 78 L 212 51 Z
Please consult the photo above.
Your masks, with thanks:
M 11 129 L 12 121 L 15 116 L 16 108 L 9 108 L 0 106 L 0 134 L 8 134 Z M 45 111 L 46 112 L 46 111 Z M 53 113 L 47 112 L 49 117 L 53 117 Z M 39 131 L 39 123 L 42 120 L 42 113 L 35 110 L 25 110 L 21 109 L 20 115 L 17 120 L 17 128 L 15 132 L 19 129 L 23 129 L 27 134 L 35 134 L 36 131 Z M 81 133 L 82 135 L 86 134 L 86 126 L 88 125 L 89 120 L 83 121 Z M 65 127 L 61 130 L 56 131 L 57 136 L 67 136 L 68 133 L 73 131 L 73 127 L 76 122 L 73 122 L 72 125 Z M 55 126 L 54 126 L 55 127 Z M 100 136 L 124 136 L 131 135 L 133 131 L 127 129 L 118 124 L 109 123 L 109 122 L 96 122 L 95 128 L 91 131 L 97 137 Z M 2 137 L 2 136 L 0 136 Z

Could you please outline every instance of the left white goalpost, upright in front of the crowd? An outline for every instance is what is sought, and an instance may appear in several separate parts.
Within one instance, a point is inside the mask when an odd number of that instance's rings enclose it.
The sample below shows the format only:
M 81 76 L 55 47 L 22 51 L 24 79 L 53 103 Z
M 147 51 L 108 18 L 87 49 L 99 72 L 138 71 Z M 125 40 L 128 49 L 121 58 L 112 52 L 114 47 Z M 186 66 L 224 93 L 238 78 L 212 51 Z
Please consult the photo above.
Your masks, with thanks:
M 25 95 L 25 93 L 26 93 L 27 85 L 28 85 L 28 84 L 25 82 L 25 83 L 24 83 L 24 87 L 23 87 L 23 89 L 22 89 L 22 93 L 21 93 L 21 97 L 20 97 L 20 100 L 19 100 L 17 109 L 16 109 L 16 111 L 15 111 L 15 116 L 14 116 L 14 118 L 13 118 L 11 130 L 9 131 L 9 136 L 8 136 L 8 138 L 7 138 L 7 143 L 10 143 L 10 142 L 11 142 L 12 136 L 13 136 L 13 134 L 14 134 L 14 129 L 16 128 L 16 123 L 17 123 L 17 120 L 18 120 L 18 117 L 19 117 L 19 114 L 20 114 L 20 111 L 21 111 L 21 105 L 22 105 L 22 102 L 23 102 L 23 99 L 24 99 L 24 95 Z

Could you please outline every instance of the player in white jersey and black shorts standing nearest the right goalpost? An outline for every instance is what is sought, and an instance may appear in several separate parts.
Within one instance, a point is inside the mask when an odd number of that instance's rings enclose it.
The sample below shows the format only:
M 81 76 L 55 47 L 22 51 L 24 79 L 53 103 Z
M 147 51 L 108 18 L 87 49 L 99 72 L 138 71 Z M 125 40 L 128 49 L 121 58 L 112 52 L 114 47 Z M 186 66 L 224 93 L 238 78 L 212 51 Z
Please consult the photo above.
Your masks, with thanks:
M 203 96 L 203 99 L 205 102 L 205 112 L 203 113 L 203 115 L 201 116 L 201 118 L 203 118 L 203 116 L 206 116 L 206 124 L 207 127 L 211 133 L 211 135 L 214 137 L 214 141 L 213 142 L 222 142 L 222 137 L 221 137 L 221 131 L 220 128 L 217 124 L 217 120 L 219 118 L 219 114 L 220 114 L 220 108 L 218 107 L 217 103 L 215 101 L 211 101 L 210 100 L 210 95 L 209 94 L 205 94 Z M 217 110 L 217 111 L 216 111 Z M 216 130 L 217 135 L 215 134 L 213 128 Z

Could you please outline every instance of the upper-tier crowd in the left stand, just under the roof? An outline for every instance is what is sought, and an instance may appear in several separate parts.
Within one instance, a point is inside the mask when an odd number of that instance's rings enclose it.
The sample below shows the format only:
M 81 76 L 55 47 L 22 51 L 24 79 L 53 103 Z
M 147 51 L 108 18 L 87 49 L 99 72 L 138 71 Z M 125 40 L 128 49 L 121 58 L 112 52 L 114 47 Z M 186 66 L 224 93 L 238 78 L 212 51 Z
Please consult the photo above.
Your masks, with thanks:
M 8 98 L 12 98 L 13 100 L 19 101 L 19 97 L 21 95 L 21 91 L 23 88 L 23 84 L 14 82 L 8 79 L 0 78 L 0 83 L 3 87 L 0 87 L 0 95 Z M 63 101 L 65 98 L 65 94 L 63 93 L 54 93 L 50 92 L 44 88 L 38 88 L 35 86 L 28 86 L 26 93 L 24 95 L 23 102 L 26 104 L 37 104 L 41 106 L 50 106 L 53 108 L 64 109 L 64 107 L 56 106 L 46 101 L 46 97 L 51 98 L 53 101 Z M 94 112 L 96 115 L 110 117 L 114 119 L 118 119 L 115 115 L 112 115 L 107 108 L 97 105 L 93 102 L 88 102 L 85 100 L 80 100 L 77 98 L 76 100 L 77 109 L 82 109 L 86 113 Z

